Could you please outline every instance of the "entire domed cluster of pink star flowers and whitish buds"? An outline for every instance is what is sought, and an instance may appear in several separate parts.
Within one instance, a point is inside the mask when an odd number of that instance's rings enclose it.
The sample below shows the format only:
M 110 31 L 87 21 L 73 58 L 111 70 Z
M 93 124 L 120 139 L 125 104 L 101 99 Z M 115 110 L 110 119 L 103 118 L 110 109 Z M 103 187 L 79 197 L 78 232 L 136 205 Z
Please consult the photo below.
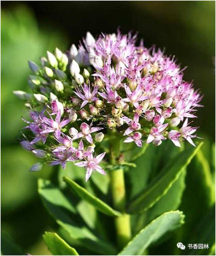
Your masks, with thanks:
M 96 40 L 87 32 L 78 48 L 72 45 L 65 53 L 56 48 L 40 66 L 30 61 L 29 66 L 33 94 L 14 92 L 26 100 L 31 118 L 24 121 L 33 137 L 21 144 L 51 165 L 65 168 L 66 161 L 75 161 L 86 168 L 86 180 L 94 171 L 105 174 L 99 165 L 105 152 L 94 151 L 109 129 L 138 147 L 166 139 L 177 147 L 185 139 L 195 146 L 197 127 L 188 120 L 196 117 L 200 94 L 183 80 L 174 58 L 143 42 L 136 46 L 136 35 L 118 31 Z

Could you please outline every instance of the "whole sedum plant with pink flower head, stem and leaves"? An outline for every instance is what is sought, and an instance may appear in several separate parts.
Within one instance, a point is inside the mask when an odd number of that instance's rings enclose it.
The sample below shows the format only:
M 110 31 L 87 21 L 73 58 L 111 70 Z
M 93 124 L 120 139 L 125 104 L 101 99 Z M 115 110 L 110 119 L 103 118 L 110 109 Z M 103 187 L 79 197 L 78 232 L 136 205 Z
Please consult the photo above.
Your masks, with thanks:
M 44 235 L 54 255 L 145 255 L 184 223 L 177 209 L 201 146 L 191 120 L 202 96 L 174 57 L 136 45 L 136 37 L 87 32 L 78 47 L 29 61 L 32 93 L 14 91 L 29 110 L 21 145 L 41 159 L 30 171 L 54 168 L 38 181 L 58 224 L 58 234 Z M 147 173 L 153 163 L 160 172 Z M 176 198 L 164 200 L 176 184 Z

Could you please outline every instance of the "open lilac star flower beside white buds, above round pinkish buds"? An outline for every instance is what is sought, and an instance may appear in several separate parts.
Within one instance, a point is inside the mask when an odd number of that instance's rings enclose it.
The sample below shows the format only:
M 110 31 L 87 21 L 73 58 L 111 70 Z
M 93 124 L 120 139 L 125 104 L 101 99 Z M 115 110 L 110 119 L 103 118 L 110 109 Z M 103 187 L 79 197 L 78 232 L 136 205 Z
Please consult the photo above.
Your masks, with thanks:
M 82 86 L 82 85 L 81 85 Z M 92 101 L 96 101 L 97 97 L 95 97 L 97 91 L 98 91 L 98 87 L 95 86 L 93 88 L 93 91 L 91 92 L 91 88 L 90 88 L 90 83 L 89 86 L 87 86 L 85 83 L 82 86 L 83 89 L 83 93 L 80 91 L 80 89 L 78 87 L 76 87 L 76 92 L 74 92 L 80 99 L 83 100 L 82 104 L 81 104 L 81 108 L 84 107 L 88 102 L 92 102 Z

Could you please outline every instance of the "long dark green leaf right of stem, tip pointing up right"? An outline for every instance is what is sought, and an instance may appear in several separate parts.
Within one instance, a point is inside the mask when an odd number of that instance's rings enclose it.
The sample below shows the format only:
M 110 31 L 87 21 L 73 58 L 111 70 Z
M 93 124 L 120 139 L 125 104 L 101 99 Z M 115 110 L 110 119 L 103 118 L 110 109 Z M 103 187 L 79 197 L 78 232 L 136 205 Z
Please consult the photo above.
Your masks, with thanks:
M 195 148 L 190 146 L 170 161 L 152 182 L 150 182 L 146 189 L 130 203 L 127 212 L 136 214 L 152 207 L 167 193 L 201 145 L 202 143 L 199 143 Z

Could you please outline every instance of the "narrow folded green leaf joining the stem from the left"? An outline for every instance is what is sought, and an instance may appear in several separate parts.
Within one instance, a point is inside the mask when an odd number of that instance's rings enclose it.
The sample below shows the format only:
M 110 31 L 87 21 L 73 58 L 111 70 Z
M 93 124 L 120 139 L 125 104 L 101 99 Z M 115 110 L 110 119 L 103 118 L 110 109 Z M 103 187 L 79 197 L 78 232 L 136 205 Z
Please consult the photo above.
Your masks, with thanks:
M 78 185 L 75 181 L 69 179 L 68 177 L 63 177 L 63 180 L 68 184 L 69 187 L 82 199 L 87 201 L 89 204 L 93 205 L 99 211 L 107 214 L 109 216 L 119 216 L 120 212 L 112 209 L 108 204 L 104 203 L 99 198 L 92 196 L 85 188 Z

